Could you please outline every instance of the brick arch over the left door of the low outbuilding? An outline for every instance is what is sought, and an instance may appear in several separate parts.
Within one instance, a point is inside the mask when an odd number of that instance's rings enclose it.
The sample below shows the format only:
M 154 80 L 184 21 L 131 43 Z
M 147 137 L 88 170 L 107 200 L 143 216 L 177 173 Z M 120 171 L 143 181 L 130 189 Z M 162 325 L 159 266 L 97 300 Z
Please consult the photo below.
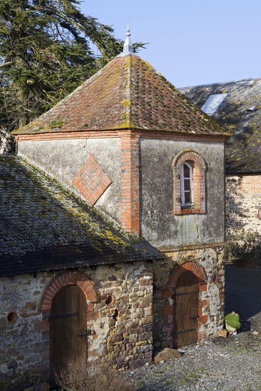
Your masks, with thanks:
M 97 294 L 94 289 L 93 281 L 84 273 L 69 271 L 55 277 L 49 284 L 43 295 L 41 311 L 49 311 L 56 293 L 69 284 L 79 286 L 83 290 L 88 302 L 95 303 L 97 301 Z

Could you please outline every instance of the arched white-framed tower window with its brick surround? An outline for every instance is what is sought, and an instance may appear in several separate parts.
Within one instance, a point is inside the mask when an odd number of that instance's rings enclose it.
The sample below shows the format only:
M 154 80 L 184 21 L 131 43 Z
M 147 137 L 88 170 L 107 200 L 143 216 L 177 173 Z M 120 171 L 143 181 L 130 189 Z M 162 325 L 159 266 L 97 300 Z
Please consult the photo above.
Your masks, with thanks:
M 195 151 L 179 152 L 172 162 L 173 214 L 206 213 L 204 159 Z

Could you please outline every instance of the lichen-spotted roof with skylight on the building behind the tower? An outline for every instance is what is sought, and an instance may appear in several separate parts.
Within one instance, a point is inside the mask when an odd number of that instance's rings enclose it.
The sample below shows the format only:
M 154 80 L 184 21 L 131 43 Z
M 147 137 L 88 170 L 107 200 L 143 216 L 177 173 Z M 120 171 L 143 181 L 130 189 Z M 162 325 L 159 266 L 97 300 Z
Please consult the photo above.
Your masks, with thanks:
M 233 131 L 225 144 L 226 172 L 261 173 L 261 79 L 187 87 L 180 91 L 198 107 L 211 94 L 228 93 L 211 116 Z M 247 111 L 254 105 L 254 111 Z

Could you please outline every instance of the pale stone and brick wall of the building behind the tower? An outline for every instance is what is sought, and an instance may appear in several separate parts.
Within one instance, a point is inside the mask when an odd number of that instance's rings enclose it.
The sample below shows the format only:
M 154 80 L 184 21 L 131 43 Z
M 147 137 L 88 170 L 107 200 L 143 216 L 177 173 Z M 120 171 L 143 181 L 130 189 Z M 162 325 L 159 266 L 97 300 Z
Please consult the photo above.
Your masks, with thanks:
M 226 177 L 226 236 L 244 228 L 261 234 L 261 175 Z

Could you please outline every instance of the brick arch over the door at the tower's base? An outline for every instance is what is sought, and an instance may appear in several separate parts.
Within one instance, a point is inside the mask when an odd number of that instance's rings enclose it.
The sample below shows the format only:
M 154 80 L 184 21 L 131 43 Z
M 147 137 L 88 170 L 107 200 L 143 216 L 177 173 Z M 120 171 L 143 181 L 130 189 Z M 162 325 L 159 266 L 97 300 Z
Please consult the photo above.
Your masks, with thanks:
M 201 286 L 200 291 L 206 290 L 205 271 L 202 266 L 199 266 L 196 262 L 193 261 L 186 261 L 174 268 L 170 275 L 169 288 L 175 289 L 177 280 L 180 275 L 188 270 L 198 277 L 198 284 Z

